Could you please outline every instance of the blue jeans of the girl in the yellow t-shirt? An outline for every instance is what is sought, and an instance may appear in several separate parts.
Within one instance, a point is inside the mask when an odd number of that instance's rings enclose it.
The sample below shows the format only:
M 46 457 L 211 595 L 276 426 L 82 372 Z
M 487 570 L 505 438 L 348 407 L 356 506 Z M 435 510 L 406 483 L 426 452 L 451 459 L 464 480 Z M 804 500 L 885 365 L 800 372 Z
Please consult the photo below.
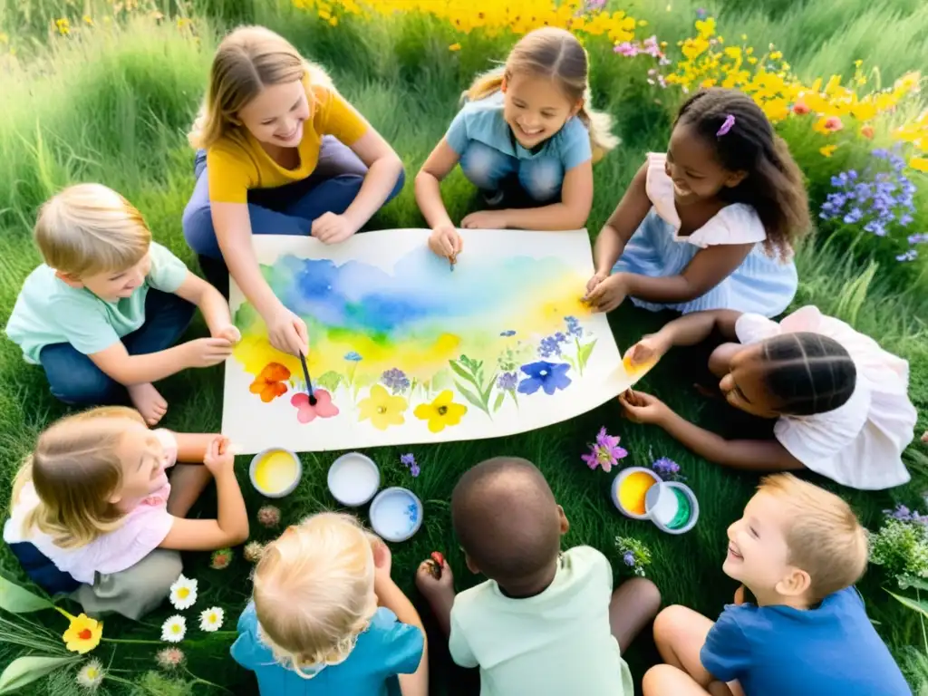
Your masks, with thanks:
M 342 214 L 348 209 L 361 190 L 366 174 L 367 166 L 351 148 L 331 135 L 324 135 L 313 174 L 282 187 L 252 188 L 248 192 L 252 234 L 309 237 L 317 217 L 324 213 Z M 194 175 L 197 184 L 184 210 L 184 237 L 190 249 L 201 257 L 221 259 L 210 210 L 204 150 L 197 151 Z M 405 182 L 406 174 L 400 174 L 387 200 L 397 196 Z

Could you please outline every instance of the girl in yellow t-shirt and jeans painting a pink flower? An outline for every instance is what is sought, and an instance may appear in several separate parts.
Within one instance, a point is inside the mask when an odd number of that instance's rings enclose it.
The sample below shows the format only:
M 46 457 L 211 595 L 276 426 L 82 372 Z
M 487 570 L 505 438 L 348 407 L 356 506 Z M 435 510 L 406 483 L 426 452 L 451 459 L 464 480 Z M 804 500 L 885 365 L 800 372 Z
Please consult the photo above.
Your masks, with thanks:
M 189 140 L 198 151 L 187 243 L 217 285 L 225 260 L 277 349 L 305 354 L 306 325 L 267 284 L 251 234 L 342 242 L 399 193 L 403 162 L 324 71 L 263 27 L 239 27 L 219 45 Z

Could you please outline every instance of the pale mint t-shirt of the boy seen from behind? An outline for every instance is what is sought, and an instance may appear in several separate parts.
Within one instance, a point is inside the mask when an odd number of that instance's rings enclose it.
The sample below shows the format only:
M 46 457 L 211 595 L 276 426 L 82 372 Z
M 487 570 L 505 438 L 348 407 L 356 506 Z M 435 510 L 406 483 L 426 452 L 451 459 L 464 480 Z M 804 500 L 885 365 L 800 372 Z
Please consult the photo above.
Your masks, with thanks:
M 632 696 L 609 626 L 611 599 L 606 557 L 572 548 L 535 597 L 510 599 L 493 580 L 458 594 L 448 649 L 462 667 L 480 667 L 481 696 Z

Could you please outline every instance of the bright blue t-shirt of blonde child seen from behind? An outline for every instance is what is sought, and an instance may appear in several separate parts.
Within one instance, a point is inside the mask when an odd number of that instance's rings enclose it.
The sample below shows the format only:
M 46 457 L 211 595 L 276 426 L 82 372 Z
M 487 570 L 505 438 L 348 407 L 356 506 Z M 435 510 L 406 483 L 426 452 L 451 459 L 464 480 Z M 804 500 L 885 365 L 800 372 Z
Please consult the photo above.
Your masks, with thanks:
M 367 630 L 357 637 L 348 659 L 303 678 L 277 663 L 259 638 L 258 615 L 254 602 L 249 602 L 238 618 L 238 638 L 231 652 L 238 664 L 258 677 L 263 696 L 399 696 L 396 675 L 412 674 L 419 668 L 422 647 L 417 626 L 401 624 L 396 614 L 380 607 Z

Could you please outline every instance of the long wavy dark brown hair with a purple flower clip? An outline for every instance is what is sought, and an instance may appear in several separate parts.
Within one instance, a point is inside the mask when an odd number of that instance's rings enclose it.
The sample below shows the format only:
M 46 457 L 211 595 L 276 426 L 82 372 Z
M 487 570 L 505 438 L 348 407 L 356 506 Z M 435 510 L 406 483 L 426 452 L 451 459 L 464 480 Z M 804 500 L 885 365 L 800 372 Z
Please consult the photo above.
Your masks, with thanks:
M 716 135 L 726 117 L 735 118 L 725 135 Z M 803 175 L 790 150 L 754 99 L 734 89 L 714 87 L 684 103 L 674 123 L 685 123 L 715 148 L 729 172 L 747 172 L 736 187 L 719 193 L 729 203 L 747 203 L 760 216 L 767 253 L 787 258 L 812 227 Z

